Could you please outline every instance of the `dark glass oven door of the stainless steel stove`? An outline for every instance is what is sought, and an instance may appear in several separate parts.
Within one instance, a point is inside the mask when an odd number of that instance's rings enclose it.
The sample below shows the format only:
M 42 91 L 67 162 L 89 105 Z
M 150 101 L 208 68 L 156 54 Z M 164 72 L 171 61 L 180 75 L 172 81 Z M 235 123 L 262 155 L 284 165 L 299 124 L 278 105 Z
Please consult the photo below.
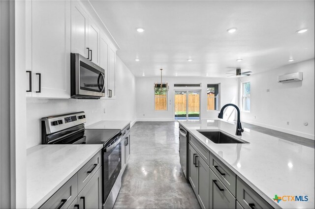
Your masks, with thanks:
M 106 201 L 106 198 L 109 195 L 114 183 L 116 182 L 116 179 L 118 178 L 122 168 L 121 157 L 121 143 L 119 143 L 110 151 L 104 153 L 104 201 Z

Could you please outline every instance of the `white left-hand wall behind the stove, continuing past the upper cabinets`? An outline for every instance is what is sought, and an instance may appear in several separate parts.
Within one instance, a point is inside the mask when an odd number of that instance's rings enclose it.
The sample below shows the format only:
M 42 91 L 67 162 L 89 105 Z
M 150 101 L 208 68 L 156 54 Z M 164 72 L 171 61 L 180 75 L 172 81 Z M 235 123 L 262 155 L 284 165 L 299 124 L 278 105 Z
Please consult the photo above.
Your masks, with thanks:
M 85 111 L 86 125 L 100 120 L 130 120 L 135 116 L 135 77 L 117 56 L 116 99 L 27 99 L 27 148 L 41 144 L 42 117 Z M 105 113 L 104 113 L 105 107 Z

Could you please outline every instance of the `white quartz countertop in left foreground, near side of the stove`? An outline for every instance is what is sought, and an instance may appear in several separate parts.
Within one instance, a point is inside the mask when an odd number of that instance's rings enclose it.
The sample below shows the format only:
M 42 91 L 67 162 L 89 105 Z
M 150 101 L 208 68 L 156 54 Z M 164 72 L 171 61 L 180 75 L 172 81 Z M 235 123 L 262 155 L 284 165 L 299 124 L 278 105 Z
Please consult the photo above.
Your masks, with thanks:
M 39 208 L 103 145 L 37 145 L 27 150 L 27 208 Z

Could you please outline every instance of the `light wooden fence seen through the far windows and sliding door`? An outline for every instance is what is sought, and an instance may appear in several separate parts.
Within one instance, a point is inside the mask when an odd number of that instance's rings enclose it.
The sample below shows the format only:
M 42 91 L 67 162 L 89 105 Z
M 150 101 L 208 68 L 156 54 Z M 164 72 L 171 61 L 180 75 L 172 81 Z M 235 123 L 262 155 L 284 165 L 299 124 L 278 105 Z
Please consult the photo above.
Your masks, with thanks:
M 167 100 L 166 95 L 156 95 L 155 97 L 155 110 L 166 110 Z M 187 95 L 185 94 L 175 94 L 175 112 L 186 111 Z M 188 97 L 188 111 L 189 112 L 199 112 L 200 109 L 200 95 L 199 94 L 189 94 Z M 215 109 L 215 95 L 207 94 L 207 110 Z

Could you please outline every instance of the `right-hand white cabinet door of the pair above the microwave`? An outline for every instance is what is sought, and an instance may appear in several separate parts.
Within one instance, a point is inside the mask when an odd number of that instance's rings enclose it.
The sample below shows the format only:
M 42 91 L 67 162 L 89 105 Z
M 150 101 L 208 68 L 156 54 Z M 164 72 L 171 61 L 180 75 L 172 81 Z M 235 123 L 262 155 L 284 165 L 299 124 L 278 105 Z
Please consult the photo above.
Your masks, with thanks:
M 89 51 L 90 60 L 99 65 L 99 29 L 91 19 L 89 19 Z

